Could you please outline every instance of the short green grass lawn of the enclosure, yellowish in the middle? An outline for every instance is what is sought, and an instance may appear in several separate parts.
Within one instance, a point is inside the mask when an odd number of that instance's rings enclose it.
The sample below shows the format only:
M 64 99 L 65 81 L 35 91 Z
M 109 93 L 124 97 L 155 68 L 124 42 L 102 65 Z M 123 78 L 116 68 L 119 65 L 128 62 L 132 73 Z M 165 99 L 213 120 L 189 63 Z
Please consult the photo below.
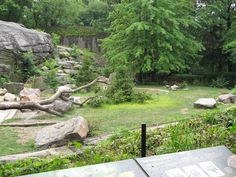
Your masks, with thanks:
M 40 119 L 67 120 L 81 115 L 92 125 L 93 134 L 113 133 L 138 128 L 141 123 L 152 126 L 191 118 L 192 115 L 205 111 L 193 108 L 193 102 L 198 98 L 217 98 L 220 94 L 229 92 L 227 89 L 189 87 L 189 90 L 157 94 L 153 88 L 164 88 L 159 86 L 139 86 L 139 88 L 152 93 L 153 98 L 144 104 L 123 103 L 103 105 L 99 108 L 84 106 L 72 110 L 62 118 L 49 115 Z M 218 109 L 224 107 L 224 105 L 219 105 Z M 32 143 L 26 145 L 16 143 L 17 133 L 14 128 L 0 128 L 0 132 L 0 155 L 34 150 Z

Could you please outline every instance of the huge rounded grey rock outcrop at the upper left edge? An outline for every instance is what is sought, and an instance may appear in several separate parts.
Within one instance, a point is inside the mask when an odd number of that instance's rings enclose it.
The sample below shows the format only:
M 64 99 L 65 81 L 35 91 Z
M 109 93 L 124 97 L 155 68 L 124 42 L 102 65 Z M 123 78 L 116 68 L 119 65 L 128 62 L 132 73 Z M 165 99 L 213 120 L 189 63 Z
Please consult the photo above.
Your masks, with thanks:
M 49 34 L 27 29 L 23 25 L 0 20 L 0 74 L 14 74 L 14 60 L 27 51 L 37 58 L 46 58 L 53 53 Z

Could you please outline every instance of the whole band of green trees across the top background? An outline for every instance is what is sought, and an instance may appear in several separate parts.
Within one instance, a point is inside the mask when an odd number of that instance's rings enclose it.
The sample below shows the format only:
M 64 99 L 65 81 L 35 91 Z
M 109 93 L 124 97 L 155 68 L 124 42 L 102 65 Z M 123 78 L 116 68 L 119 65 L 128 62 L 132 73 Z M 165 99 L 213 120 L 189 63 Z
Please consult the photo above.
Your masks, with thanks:
M 222 75 L 236 71 L 235 4 L 235 0 L 4 0 L 0 19 L 47 32 L 70 26 L 73 31 L 77 26 L 106 31 L 102 47 L 112 70 L 128 65 L 142 75 Z

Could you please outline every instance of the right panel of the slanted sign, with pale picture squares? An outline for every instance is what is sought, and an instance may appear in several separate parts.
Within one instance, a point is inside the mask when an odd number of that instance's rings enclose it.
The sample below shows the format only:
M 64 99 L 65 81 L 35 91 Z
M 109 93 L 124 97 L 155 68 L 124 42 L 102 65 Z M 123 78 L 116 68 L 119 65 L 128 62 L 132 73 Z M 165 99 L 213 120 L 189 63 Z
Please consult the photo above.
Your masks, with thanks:
M 236 177 L 234 156 L 218 146 L 136 160 L 151 177 Z

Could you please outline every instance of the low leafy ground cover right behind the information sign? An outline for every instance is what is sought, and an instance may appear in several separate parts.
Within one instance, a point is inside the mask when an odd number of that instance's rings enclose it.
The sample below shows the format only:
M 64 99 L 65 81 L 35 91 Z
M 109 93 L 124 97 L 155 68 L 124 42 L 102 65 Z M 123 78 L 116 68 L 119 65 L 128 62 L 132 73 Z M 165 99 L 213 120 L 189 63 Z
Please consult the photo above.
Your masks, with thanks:
M 147 132 L 148 155 L 226 145 L 236 152 L 236 109 L 209 112 L 177 125 Z M 233 122 L 232 127 L 228 127 Z M 78 143 L 76 147 L 81 147 Z M 140 132 L 123 131 L 108 140 L 84 149 L 79 156 L 28 159 L 0 164 L 0 176 L 10 177 L 63 168 L 140 157 Z

